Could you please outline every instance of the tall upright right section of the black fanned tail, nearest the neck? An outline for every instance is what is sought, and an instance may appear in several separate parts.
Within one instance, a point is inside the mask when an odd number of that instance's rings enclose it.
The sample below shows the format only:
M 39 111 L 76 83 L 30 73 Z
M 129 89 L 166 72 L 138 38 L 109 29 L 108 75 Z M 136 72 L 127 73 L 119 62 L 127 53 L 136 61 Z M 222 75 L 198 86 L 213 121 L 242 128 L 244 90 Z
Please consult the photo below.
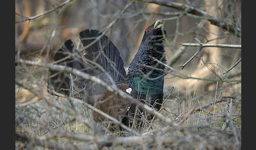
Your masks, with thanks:
M 86 29 L 81 31 L 79 35 L 85 47 L 101 34 L 98 30 Z M 102 66 L 115 82 L 121 82 L 126 78 L 124 62 L 120 56 L 120 52 L 107 36 L 104 35 L 99 41 L 87 48 L 86 53 L 88 55 L 87 58 Z

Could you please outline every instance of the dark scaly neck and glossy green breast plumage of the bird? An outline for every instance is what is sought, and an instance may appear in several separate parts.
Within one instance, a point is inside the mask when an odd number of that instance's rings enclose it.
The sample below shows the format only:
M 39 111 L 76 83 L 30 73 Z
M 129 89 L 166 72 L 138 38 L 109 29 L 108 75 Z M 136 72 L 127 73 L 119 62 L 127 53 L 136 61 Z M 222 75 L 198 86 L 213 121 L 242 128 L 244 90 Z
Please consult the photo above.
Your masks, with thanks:
M 161 70 L 165 69 L 163 65 L 153 58 L 163 63 L 166 62 L 163 45 L 161 43 L 152 45 L 151 43 L 142 42 L 139 51 L 129 66 L 128 77 L 130 78 L 129 85 L 132 90 L 144 95 L 149 93 L 160 94 L 163 92 L 163 77 L 159 76 L 162 76 L 164 72 L 160 70 L 152 71 L 152 68 L 146 67 L 151 66 Z M 146 75 L 149 75 L 148 78 L 145 77 Z

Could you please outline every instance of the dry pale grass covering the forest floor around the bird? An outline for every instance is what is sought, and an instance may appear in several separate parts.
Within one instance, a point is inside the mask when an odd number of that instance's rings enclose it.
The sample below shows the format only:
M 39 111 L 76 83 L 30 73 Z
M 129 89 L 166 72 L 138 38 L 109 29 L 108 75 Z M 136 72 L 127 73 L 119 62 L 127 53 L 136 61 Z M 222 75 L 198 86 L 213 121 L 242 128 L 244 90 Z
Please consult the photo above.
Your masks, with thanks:
M 211 92 L 188 93 L 179 90 L 178 87 L 165 85 L 164 104 L 160 112 L 179 125 L 170 126 L 155 117 L 153 122 L 149 122 L 145 120 L 145 113 L 142 116 L 137 113 L 140 118 L 139 128 L 135 125 L 132 125 L 131 128 L 139 135 L 133 135 L 123 130 L 113 132 L 111 126 L 113 122 L 107 121 L 97 124 L 101 131 L 100 135 L 96 136 L 91 128 L 75 119 L 74 116 L 57 110 L 42 100 L 28 105 L 16 105 L 15 128 L 16 132 L 50 143 L 77 145 L 77 149 L 83 147 L 84 144 L 93 145 L 94 148 L 98 146 L 100 149 L 240 149 L 241 97 L 237 92 L 237 88 L 241 88 L 240 86 L 241 84 L 227 87 L 223 85 L 222 88 L 219 87 Z M 33 99 L 29 99 L 33 94 L 21 90 L 22 88 L 19 87 L 17 89 L 20 90 L 17 90 L 16 102 L 24 103 L 24 97 L 27 98 L 25 103 L 33 101 Z M 194 111 L 199 110 L 201 106 L 222 99 L 223 94 L 227 95 L 227 92 L 232 95 L 231 99 L 227 98 L 227 101 L 209 105 L 208 108 L 201 111 Z M 231 100 L 232 110 L 230 110 Z M 93 121 L 91 110 L 80 103 L 72 102 L 71 104 L 68 100 L 58 102 L 71 108 L 73 104 L 77 113 Z M 234 127 L 236 133 L 234 133 Z M 67 136 L 68 133 L 73 136 Z M 81 138 L 75 138 L 75 135 L 79 135 Z M 93 141 L 86 140 L 87 135 L 96 138 L 98 142 L 92 143 Z M 115 140 L 112 138 L 106 140 L 105 137 L 102 137 L 103 135 L 106 135 L 107 139 L 112 137 Z M 236 145 L 235 138 L 238 138 L 239 145 Z M 15 144 L 16 147 L 28 146 L 21 142 Z M 34 148 L 44 149 L 41 146 Z M 87 148 L 90 149 L 90 147 Z

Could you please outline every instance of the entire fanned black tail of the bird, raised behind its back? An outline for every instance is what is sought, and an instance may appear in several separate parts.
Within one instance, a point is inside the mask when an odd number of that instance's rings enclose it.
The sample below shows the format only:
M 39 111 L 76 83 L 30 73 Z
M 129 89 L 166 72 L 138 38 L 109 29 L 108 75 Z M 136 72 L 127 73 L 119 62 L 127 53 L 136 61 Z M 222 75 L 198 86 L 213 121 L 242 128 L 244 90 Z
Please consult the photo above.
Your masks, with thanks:
M 91 44 L 91 42 L 98 36 L 100 36 L 100 33 L 97 30 L 86 29 L 80 33 L 80 39 L 84 47 L 88 44 Z M 67 40 L 64 45 L 56 52 L 54 61 L 59 61 L 74 52 L 74 43 L 72 40 Z M 83 57 L 98 63 L 108 74 L 110 74 L 110 77 L 114 80 L 114 82 L 121 82 L 125 80 L 126 72 L 124 70 L 124 63 L 120 56 L 120 52 L 109 40 L 109 38 L 107 38 L 107 36 L 104 35 L 99 41 L 95 42 L 95 44 L 85 49 L 85 55 L 83 55 Z M 103 72 L 92 63 L 90 63 L 91 65 L 88 67 L 88 63 L 90 62 L 83 62 L 81 58 L 77 59 L 77 57 L 75 58 L 73 56 L 63 61 L 57 62 L 58 65 L 73 67 L 78 70 L 83 69 L 82 71 L 91 74 L 92 76 L 96 76 L 97 78 L 101 78 L 108 83 L 111 83 L 109 76 L 107 76 L 105 72 Z M 54 74 L 56 74 L 56 76 L 54 76 Z M 48 93 L 51 93 L 50 88 L 52 87 L 57 92 L 63 93 L 65 95 L 70 94 L 70 74 L 50 70 L 50 76 L 53 77 L 47 81 Z M 106 92 L 105 88 L 89 80 L 77 78 L 75 84 L 75 91 L 80 92 L 78 95 L 81 97 L 86 97 L 86 95 L 92 96 Z

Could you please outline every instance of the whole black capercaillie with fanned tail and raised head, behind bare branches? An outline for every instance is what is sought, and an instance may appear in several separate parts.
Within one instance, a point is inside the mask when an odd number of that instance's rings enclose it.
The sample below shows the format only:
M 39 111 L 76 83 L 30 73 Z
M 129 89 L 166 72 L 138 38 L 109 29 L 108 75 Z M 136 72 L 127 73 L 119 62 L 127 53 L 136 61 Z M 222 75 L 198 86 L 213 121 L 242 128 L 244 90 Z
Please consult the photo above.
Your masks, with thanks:
M 74 42 L 71 39 L 67 40 L 55 53 L 54 62 L 57 65 L 72 67 L 96 76 L 109 84 L 116 84 L 117 88 L 130 94 L 134 99 L 150 105 L 156 111 L 160 110 L 163 102 L 165 70 L 163 64 L 166 63 L 163 44 L 166 30 L 163 29 L 161 20 L 156 20 L 145 28 L 140 47 L 132 59 L 127 73 L 119 49 L 106 35 L 103 35 L 90 47 L 87 45 L 101 36 L 100 31 L 85 29 L 80 32 L 79 36 L 83 47 L 85 47 L 84 51 L 78 55 Z M 81 98 L 129 127 L 133 126 L 135 120 L 136 125 L 140 124 L 142 116 L 136 116 L 137 112 L 145 113 L 120 95 L 73 74 L 49 70 L 47 83 L 48 93 L 55 95 L 53 92 L 55 91 L 66 96 Z M 95 122 L 106 120 L 104 115 L 95 111 L 92 111 L 92 116 Z M 149 114 L 146 118 L 152 120 L 152 117 Z M 114 128 L 119 128 L 119 126 L 115 125 Z

